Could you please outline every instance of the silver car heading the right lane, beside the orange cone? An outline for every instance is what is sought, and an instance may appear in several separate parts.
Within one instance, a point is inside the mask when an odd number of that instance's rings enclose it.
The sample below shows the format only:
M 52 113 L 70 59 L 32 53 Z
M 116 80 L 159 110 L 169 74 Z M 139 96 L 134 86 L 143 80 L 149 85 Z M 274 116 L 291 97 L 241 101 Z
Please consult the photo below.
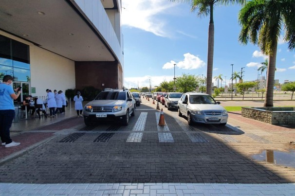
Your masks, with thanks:
M 178 116 L 186 116 L 193 123 L 226 125 L 227 111 L 214 98 L 205 93 L 187 92 L 178 101 Z

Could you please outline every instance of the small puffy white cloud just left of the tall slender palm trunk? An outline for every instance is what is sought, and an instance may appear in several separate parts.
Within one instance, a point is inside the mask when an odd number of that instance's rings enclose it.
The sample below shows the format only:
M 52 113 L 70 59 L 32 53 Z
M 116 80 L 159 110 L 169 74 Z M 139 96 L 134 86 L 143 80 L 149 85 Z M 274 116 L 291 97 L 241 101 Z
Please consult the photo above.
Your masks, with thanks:
M 162 67 L 162 69 L 172 69 L 174 68 L 174 64 L 176 64 L 178 68 L 184 70 L 199 69 L 206 65 L 205 62 L 201 60 L 198 56 L 195 56 L 190 53 L 185 53 L 183 61 L 179 61 L 178 63 L 175 63 L 175 61 L 167 62 Z

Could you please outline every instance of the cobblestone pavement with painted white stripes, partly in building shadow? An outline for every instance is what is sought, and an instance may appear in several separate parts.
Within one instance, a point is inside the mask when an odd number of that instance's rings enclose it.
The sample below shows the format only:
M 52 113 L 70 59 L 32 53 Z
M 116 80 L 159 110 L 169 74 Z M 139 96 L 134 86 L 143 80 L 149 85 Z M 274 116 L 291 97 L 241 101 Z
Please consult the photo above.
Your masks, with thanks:
M 293 127 L 229 113 L 226 126 L 187 125 L 143 99 L 128 126 L 82 118 L 15 134 L 0 147 L 0 195 L 293 195 L 295 168 L 253 155 L 295 149 Z M 273 158 L 275 159 L 275 158 Z

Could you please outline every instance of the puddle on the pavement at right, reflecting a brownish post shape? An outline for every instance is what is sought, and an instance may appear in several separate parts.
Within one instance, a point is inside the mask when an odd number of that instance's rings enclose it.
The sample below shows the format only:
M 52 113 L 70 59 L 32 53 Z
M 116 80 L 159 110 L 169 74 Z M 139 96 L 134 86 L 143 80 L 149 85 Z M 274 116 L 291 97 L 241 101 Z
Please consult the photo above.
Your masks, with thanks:
M 288 152 L 264 150 L 260 154 L 253 155 L 252 159 L 295 168 L 295 150 Z

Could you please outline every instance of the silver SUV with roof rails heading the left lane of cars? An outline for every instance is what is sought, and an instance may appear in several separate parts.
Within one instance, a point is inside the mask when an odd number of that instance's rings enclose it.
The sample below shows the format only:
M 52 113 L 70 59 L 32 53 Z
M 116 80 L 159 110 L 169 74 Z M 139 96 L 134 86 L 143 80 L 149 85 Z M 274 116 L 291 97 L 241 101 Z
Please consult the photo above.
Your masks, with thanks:
M 135 101 L 129 90 L 107 89 L 101 91 L 83 109 L 87 126 L 98 121 L 121 121 L 129 124 L 129 115 L 135 115 Z

